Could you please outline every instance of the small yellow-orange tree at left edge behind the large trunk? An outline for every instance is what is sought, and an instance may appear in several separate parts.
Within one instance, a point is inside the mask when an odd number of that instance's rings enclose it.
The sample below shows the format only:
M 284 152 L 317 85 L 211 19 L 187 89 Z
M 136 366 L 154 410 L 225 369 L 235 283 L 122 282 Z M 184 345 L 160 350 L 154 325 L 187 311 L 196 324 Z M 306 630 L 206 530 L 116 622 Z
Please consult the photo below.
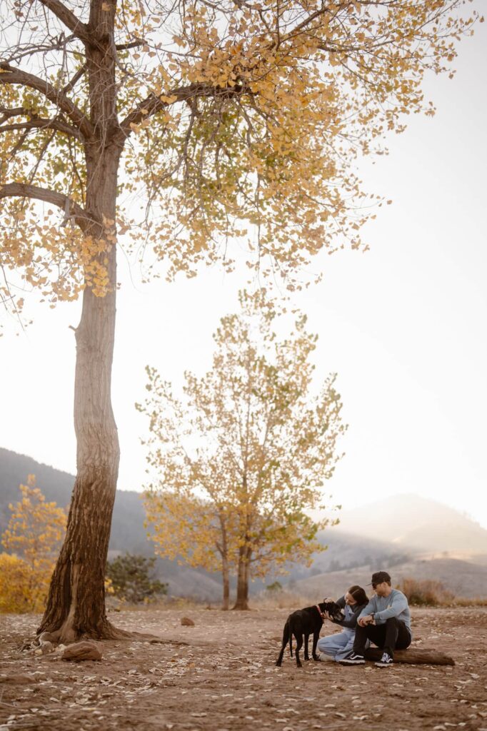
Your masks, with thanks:
M 20 485 L 20 493 L 20 501 L 9 505 L 12 515 L 1 536 L 12 554 L 1 554 L 4 601 L 9 611 L 39 612 L 45 607 L 67 516 L 55 502 L 45 501 L 33 474 L 27 485 Z

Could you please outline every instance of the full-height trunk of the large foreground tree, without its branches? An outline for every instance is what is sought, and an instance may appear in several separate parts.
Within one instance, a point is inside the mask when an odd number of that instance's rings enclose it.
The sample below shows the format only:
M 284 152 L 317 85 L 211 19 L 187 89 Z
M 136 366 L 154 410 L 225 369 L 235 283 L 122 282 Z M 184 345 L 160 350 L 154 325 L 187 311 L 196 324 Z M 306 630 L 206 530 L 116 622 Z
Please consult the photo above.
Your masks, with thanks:
M 105 236 L 103 221 L 116 220 L 120 148 L 110 146 L 116 127 L 114 4 L 92 0 L 89 27 L 98 45 L 86 48 L 91 122 L 96 137 L 85 145 L 86 209 L 100 222 L 92 238 Z M 118 434 L 111 405 L 111 368 L 115 336 L 116 244 L 100 254 L 107 259 L 110 291 L 97 297 L 83 292 L 76 330 L 75 433 L 77 476 L 67 533 L 50 583 L 48 605 L 38 632 L 59 640 L 120 637 L 105 613 L 105 563 L 118 477 Z

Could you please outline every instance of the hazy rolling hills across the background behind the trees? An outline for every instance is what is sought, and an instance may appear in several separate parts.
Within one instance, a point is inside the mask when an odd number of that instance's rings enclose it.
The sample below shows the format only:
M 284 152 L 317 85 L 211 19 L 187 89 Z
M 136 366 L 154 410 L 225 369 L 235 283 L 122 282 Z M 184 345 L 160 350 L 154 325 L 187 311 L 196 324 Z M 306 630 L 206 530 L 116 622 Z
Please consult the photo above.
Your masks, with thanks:
M 10 517 L 8 504 L 17 501 L 18 485 L 35 474 L 37 485 L 48 500 L 67 506 L 75 478 L 45 464 L 0 448 L 0 532 Z M 154 555 L 146 537 L 145 515 L 140 493 L 117 491 L 110 535 L 109 557 L 115 553 Z M 487 531 L 445 505 L 419 496 L 399 496 L 344 511 L 341 524 L 318 534 L 328 549 L 313 557 L 312 565 L 289 564 L 284 576 L 269 575 L 265 582 L 252 583 L 251 591 L 262 591 L 276 578 L 283 585 L 310 596 L 338 594 L 352 583 L 368 583 L 377 569 L 390 569 L 394 580 L 403 576 L 439 578 L 459 596 L 482 596 L 487 586 Z M 425 561 L 420 553 L 461 553 L 435 556 Z M 473 560 L 468 560 L 470 554 Z M 483 555 L 481 555 L 483 554 Z M 465 558 L 461 561 L 460 558 Z M 170 594 L 219 601 L 222 588 L 218 573 L 179 565 L 159 558 L 159 577 L 169 583 Z

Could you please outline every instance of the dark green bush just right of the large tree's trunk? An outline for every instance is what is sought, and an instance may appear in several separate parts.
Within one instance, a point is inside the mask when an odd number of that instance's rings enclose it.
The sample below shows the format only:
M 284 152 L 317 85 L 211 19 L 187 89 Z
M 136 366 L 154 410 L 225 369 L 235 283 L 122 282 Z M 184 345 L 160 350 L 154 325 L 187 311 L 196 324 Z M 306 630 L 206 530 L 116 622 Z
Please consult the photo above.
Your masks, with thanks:
M 114 596 L 138 604 L 167 594 L 167 584 L 151 577 L 155 562 L 155 558 L 134 556 L 132 553 L 107 561 L 107 579 Z

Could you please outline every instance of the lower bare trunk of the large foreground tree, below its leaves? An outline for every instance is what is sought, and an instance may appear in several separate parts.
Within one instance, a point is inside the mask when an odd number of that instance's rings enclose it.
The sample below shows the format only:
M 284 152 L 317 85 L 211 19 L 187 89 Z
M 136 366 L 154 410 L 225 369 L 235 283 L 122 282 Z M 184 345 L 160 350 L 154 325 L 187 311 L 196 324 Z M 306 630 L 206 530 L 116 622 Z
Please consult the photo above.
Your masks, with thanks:
M 115 247 L 110 252 L 115 266 Z M 110 404 L 115 290 L 83 294 L 76 330 L 75 432 L 78 472 L 64 545 L 38 632 L 62 641 L 112 637 L 105 613 L 105 563 L 118 475 L 118 435 Z

